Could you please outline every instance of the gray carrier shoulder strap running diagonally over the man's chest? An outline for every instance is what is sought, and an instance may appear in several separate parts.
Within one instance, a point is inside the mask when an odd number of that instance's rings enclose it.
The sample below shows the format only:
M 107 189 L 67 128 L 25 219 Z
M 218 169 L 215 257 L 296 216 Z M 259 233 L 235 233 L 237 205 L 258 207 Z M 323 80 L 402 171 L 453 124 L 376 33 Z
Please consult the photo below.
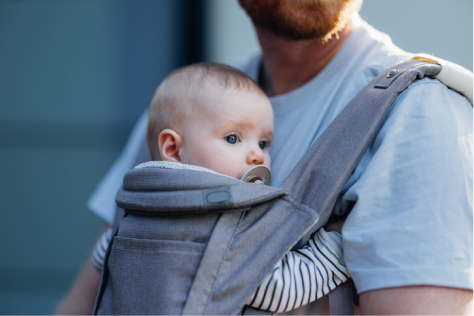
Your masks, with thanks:
M 326 224 L 339 192 L 398 95 L 416 79 L 434 77 L 440 71 L 440 65 L 419 60 L 383 71 L 357 94 L 310 147 L 282 188 L 300 203 L 321 210 L 321 218 L 312 231 Z M 331 316 L 354 315 L 353 301 L 347 299 L 352 296 L 350 283 L 331 292 Z M 295 311 L 293 314 L 298 315 Z

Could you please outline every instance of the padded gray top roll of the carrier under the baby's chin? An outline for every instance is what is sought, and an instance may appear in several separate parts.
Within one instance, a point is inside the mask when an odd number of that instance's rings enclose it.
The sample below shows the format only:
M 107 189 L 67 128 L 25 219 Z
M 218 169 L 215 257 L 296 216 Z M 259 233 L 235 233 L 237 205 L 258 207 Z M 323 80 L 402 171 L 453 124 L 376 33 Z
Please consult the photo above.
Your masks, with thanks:
M 132 169 L 125 175 L 115 200 L 119 207 L 134 212 L 207 212 L 212 207 L 205 203 L 202 191 L 222 187 L 231 189 L 233 203 L 220 205 L 221 211 L 249 207 L 286 195 L 280 188 L 245 183 L 218 174 L 144 168 Z

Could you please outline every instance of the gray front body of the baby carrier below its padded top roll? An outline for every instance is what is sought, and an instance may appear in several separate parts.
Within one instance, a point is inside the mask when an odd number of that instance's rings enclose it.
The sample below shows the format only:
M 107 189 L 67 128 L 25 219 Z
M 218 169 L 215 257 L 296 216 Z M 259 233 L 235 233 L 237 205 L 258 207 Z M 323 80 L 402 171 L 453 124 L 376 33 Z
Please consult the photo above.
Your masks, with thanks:
M 203 183 L 205 179 L 203 176 L 197 180 Z M 186 305 L 190 314 L 197 315 L 198 310 L 206 315 L 237 313 L 273 263 L 318 218 L 316 211 L 284 197 L 281 189 L 240 182 L 238 185 L 261 190 L 267 196 L 266 203 L 257 204 L 252 211 L 232 207 L 222 215 L 201 214 L 194 220 L 195 215 L 182 212 L 156 217 L 128 210 L 113 241 L 108 258 L 109 281 L 96 314 L 112 311 L 111 315 L 126 315 L 133 311 L 148 315 L 160 311 L 164 315 L 181 315 L 192 284 L 198 291 L 193 291 L 195 295 L 191 294 Z M 269 190 L 280 198 L 268 194 Z M 242 192 L 249 195 L 246 190 Z M 119 193 L 117 200 L 122 198 Z M 188 203 L 181 199 L 175 202 L 176 209 L 181 209 L 179 204 Z M 202 199 L 195 202 L 202 205 Z M 261 249 L 272 243 L 276 247 Z M 247 269 L 248 265 L 252 269 Z M 132 278 L 130 273 L 146 277 Z

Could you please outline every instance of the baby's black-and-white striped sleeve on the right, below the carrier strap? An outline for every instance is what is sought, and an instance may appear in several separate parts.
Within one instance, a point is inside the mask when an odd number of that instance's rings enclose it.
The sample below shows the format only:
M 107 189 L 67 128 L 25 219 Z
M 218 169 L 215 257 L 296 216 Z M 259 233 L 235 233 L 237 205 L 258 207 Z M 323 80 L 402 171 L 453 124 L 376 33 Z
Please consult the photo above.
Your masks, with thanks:
M 286 312 L 328 294 L 349 278 L 341 234 L 321 228 L 302 249 L 285 254 L 252 293 L 247 305 Z

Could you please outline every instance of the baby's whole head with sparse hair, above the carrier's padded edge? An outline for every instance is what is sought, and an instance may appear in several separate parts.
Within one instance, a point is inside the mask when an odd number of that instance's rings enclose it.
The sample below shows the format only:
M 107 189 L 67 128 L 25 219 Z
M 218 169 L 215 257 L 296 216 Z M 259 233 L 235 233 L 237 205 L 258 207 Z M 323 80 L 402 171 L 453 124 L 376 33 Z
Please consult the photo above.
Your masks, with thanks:
M 240 179 L 270 167 L 273 111 L 243 72 L 200 63 L 172 72 L 150 105 L 148 146 L 153 160 L 205 167 Z

